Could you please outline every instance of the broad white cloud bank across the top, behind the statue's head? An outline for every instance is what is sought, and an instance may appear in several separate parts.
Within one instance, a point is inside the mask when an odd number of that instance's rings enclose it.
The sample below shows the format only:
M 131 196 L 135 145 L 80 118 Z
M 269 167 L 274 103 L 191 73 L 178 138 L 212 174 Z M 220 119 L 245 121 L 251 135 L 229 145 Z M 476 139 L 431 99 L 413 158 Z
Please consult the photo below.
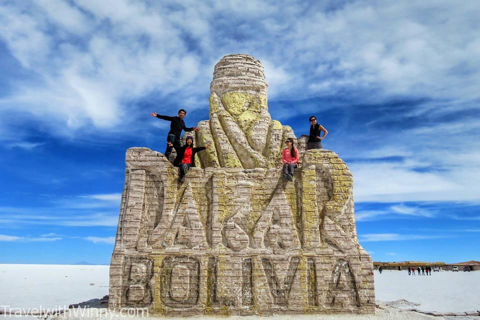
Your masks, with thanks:
M 90 124 L 113 128 L 129 120 L 125 114 L 139 111 L 128 101 L 146 94 L 204 95 L 213 63 L 223 53 L 240 51 L 264 61 L 272 96 L 283 100 L 337 92 L 357 96 L 357 90 L 375 92 L 362 94 L 363 100 L 480 96 L 474 2 L 335 5 L 8 3 L 0 8 L 0 39 L 43 83 L 16 86 L 0 103 L 39 121 L 47 117 L 44 123 L 57 134 Z

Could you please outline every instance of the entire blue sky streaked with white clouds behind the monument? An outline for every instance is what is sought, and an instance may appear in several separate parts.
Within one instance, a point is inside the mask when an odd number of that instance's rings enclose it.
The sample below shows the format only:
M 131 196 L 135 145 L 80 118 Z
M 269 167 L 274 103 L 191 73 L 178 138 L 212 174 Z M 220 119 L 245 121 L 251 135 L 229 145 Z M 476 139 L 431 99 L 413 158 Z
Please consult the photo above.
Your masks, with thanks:
M 480 260 L 477 1 L 0 1 L 0 263 L 107 264 L 131 146 L 208 118 L 213 65 L 354 176 L 374 260 Z

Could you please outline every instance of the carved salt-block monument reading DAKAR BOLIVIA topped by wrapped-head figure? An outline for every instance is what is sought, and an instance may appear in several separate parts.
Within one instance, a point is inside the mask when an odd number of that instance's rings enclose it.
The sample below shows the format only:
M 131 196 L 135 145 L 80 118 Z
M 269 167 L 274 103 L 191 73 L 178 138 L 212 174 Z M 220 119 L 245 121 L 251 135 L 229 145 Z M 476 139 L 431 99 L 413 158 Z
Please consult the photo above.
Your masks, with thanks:
M 109 307 L 167 315 L 373 313 L 373 265 L 358 243 L 353 178 L 332 151 L 272 120 L 263 67 L 224 56 L 198 123 L 196 167 L 148 148 L 126 152 Z M 280 152 L 301 151 L 293 182 Z

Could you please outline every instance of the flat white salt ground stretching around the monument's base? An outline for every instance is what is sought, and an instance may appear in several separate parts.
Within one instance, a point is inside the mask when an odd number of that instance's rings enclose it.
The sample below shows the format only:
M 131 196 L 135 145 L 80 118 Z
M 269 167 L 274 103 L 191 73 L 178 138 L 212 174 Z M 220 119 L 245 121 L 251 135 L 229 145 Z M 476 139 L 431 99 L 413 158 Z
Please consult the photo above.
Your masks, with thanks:
M 94 283 L 93 285 L 90 285 Z M 68 304 L 86 301 L 91 298 L 100 298 L 108 294 L 108 266 L 107 265 L 45 265 L 45 264 L 0 264 L 0 308 L 4 305 L 10 308 L 63 308 Z M 476 272 L 434 272 L 431 276 L 408 276 L 406 271 L 384 270 L 379 274 L 375 270 L 375 294 L 377 303 L 376 314 L 354 315 L 276 315 L 261 317 L 262 319 L 282 320 L 310 320 L 310 319 L 437 319 L 405 309 L 416 308 L 425 311 L 469 311 L 480 309 L 478 295 L 480 287 L 480 271 Z M 407 302 L 393 302 L 404 299 Z M 391 305 L 386 305 L 391 304 Z M 403 310 L 402 310 L 403 309 Z M 13 310 L 14 311 L 14 310 Z M 103 313 L 101 313 L 103 312 Z M 58 320 L 67 319 L 121 319 L 128 317 L 131 320 L 138 316 L 105 313 L 109 310 L 91 309 L 89 314 L 70 314 L 53 316 Z M 4 318 L 16 318 L 13 315 Z M 35 318 L 22 316 L 21 319 Z M 153 318 L 153 317 L 152 317 Z M 156 317 L 155 317 L 156 318 Z M 163 317 L 172 319 L 172 317 Z M 225 319 L 224 317 L 196 316 L 199 319 Z M 252 320 L 258 316 L 231 316 L 228 319 Z M 456 320 L 478 317 L 454 317 Z M 143 318 L 144 319 L 144 318 Z M 160 319 L 160 318 L 158 318 Z

